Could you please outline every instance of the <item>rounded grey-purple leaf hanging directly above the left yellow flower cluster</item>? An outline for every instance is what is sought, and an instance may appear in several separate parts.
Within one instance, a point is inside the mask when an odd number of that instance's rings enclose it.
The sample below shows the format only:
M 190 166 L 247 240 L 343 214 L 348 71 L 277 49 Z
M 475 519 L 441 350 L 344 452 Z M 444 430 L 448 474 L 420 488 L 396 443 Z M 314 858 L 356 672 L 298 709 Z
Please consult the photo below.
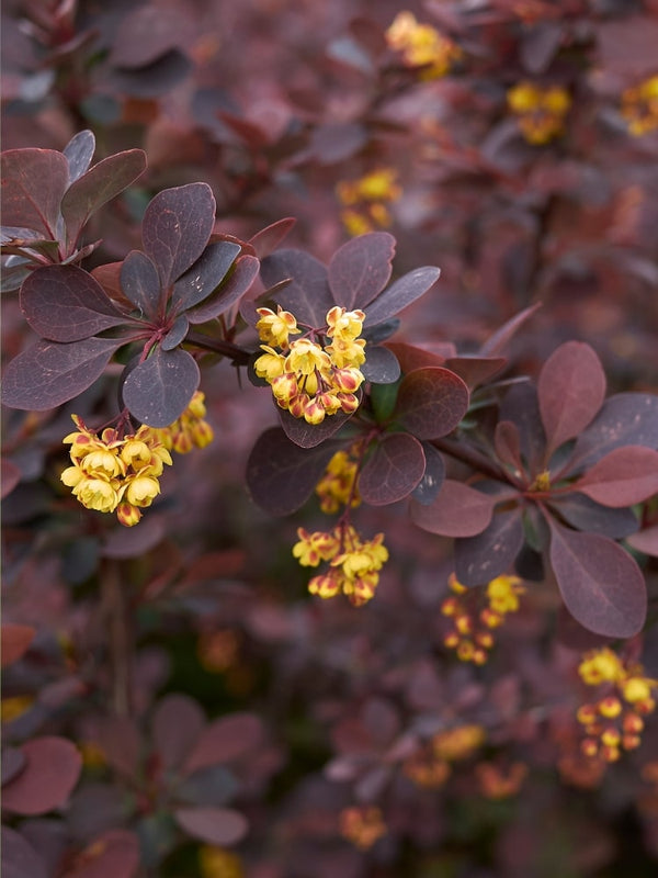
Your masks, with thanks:
M 168 427 L 183 414 L 200 380 L 196 361 L 186 350 L 157 347 L 126 375 L 123 399 L 138 420 L 149 427 Z

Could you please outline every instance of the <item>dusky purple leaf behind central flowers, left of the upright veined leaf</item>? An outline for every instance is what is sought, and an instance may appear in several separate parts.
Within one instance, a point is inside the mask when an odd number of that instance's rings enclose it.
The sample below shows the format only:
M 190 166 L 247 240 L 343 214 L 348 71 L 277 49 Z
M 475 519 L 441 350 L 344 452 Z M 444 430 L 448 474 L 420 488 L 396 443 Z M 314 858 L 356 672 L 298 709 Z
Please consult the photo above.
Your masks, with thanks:
M 292 312 L 298 323 L 319 329 L 327 325 L 327 312 L 336 304 L 327 281 L 327 269 L 302 250 L 277 250 L 261 262 L 265 286 L 291 279 L 276 293 L 276 302 Z

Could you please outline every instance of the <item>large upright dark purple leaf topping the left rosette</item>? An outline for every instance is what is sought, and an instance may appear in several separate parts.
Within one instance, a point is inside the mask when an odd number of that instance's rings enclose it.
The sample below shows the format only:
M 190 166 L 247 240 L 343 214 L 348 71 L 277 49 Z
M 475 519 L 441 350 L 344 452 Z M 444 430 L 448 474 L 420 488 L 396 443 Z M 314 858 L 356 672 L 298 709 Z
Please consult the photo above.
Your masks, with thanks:
M 141 236 L 160 284 L 168 288 L 202 255 L 215 224 L 215 198 L 207 183 L 166 189 L 149 203 Z

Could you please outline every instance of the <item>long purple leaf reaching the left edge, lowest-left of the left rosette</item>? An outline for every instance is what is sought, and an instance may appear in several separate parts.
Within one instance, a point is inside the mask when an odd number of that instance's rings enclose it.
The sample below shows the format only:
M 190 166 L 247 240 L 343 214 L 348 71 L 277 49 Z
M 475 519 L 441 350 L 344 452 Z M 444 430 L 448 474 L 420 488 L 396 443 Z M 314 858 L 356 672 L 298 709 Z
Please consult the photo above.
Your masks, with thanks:
M 2 402 L 43 412 L 72 399 L 103 373 L 123 339 L 87 338 L 63 345 L 37 341 L 4 370 Z

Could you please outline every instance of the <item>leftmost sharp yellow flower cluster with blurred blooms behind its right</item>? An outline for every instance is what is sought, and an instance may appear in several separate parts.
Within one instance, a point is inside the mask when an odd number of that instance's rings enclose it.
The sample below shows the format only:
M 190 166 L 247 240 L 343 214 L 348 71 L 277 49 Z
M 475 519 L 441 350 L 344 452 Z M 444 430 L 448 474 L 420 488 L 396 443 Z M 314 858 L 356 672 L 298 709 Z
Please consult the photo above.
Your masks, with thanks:
M 137 432 L 123 436 L 109 427 L 99 437 L 80 417 L 71 415 L 78 429 L 63 440 L 71 446 L 72 465 L 61 473 L 61 481 L 87 509 L 116 511 L 122 525 L 133 527 L 140 520 L 141 509 L 160 493 L 164 464 L 172 464 L 169 449 L 185 453 L 194 444 L 203 447 L 212 441 L 212 429 L 203 420 L 203 398 L 202 393 L 195 393 L 169 427 L 143 425 Z

